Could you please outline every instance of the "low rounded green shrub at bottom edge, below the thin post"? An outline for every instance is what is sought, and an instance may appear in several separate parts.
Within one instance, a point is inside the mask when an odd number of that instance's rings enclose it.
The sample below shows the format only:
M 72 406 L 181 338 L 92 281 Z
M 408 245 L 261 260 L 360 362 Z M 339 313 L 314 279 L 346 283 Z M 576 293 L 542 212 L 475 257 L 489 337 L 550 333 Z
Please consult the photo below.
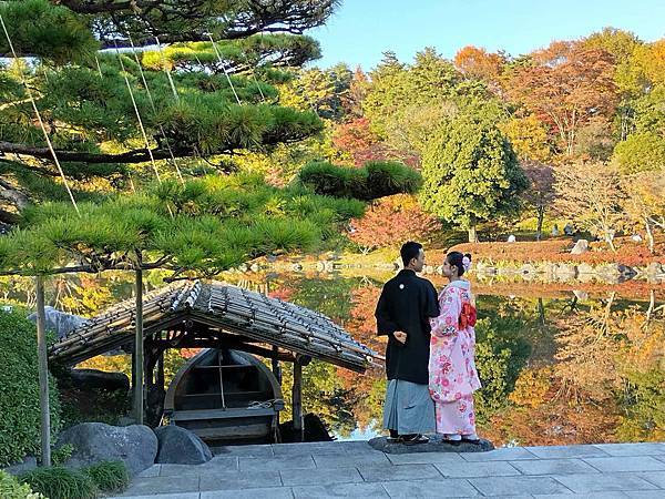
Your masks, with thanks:
M 99 495 L 92 478 L 62 466 L 38 468 L 22 475 L 20 480 L 49 499 L 93 499 Z

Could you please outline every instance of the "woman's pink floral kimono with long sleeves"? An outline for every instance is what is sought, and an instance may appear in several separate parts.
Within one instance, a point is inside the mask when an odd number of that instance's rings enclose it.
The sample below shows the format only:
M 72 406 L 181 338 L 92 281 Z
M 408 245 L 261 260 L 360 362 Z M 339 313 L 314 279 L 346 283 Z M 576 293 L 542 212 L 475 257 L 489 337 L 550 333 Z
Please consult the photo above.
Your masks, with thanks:
M 439 317 L 430 319 L 429 389 L 438 434 L 475 434 L 473 391 L 480 388 L 475 332 L 466 316 L 460 320 L 462 308 L 467 310 L 470 305 L 469 282 L 453 281 L 439 294 Z M 474 324 L 474 317 L 471 323 Z

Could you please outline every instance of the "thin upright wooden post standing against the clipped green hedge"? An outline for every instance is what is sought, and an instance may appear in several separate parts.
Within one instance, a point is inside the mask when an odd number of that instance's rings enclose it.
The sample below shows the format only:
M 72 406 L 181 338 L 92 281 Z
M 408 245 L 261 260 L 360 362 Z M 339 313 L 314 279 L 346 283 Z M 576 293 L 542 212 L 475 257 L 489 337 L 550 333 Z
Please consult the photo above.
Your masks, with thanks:
M 49 353 L 44 309 L 44 278 L 37 276 L 37 357 L 39 364 L 39 407 L 41 413 L 42 466 L 51 466 L 51 408 L 49 404 Z

